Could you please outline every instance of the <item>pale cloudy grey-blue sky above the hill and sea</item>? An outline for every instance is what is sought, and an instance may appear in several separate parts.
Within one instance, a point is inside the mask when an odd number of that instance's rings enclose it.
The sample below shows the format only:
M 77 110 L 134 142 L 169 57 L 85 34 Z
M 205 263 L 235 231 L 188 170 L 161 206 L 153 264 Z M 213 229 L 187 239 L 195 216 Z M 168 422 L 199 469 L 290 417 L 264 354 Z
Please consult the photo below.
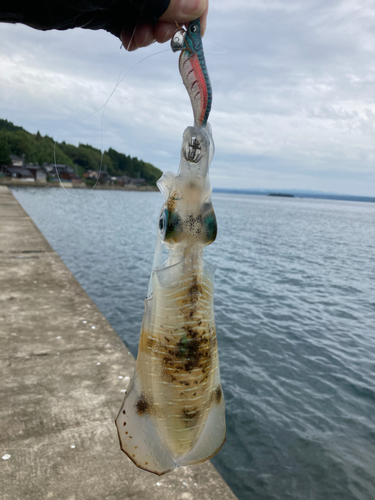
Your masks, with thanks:
M 374 26 L 375 0 L 211 0 L 213 187 L 375 196 Z M 179 55 L 120 45 L 0 24 L 0 118 L 176 172 L 193 124 Z

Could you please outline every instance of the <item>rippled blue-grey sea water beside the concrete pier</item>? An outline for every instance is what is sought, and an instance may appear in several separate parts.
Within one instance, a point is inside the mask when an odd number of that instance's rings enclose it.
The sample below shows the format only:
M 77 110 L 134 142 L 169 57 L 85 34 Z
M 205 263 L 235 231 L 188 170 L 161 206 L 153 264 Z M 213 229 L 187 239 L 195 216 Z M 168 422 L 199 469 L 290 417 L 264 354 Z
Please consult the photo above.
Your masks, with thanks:
M 162 196 L 15 188 L 136 356 Z M 215 316 L 241 500 L 375 499 L 375 204 L 214 194 Z

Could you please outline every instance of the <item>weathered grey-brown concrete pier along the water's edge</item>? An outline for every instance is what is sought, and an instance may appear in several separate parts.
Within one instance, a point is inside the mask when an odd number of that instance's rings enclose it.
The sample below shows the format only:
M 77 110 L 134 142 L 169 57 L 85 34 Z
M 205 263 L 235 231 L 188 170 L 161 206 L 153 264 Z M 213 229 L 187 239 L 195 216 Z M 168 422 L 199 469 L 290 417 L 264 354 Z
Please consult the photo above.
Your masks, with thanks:
M 157 477 L 121 452 L 134 358 L 0 186 L 0 496 L 235 500 L 211 463 Z

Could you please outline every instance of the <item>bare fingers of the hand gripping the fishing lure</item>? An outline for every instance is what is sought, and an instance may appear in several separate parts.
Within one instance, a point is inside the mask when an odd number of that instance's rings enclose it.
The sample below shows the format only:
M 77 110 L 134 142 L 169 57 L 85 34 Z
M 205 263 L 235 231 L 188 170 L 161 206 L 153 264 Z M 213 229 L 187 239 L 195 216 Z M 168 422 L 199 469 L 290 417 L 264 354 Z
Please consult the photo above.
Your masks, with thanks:
M 122 30 L 120 38 L 126 50 L 133 51 L 152 43 L 164 43 L 172 38 L 178 24 L 187 24 L 200 17 L 202 36 L 206 31 L 209 0 L 170 0 L 157 24 L 141 24 L 134 33 Z

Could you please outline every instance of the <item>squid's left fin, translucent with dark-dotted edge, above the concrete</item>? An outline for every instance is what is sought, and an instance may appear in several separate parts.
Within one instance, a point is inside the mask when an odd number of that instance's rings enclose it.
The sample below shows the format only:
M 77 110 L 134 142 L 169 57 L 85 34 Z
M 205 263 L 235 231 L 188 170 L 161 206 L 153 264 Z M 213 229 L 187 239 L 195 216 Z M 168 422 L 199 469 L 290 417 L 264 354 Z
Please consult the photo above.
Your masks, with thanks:
M 160 439 L 152 418 L 142 411 L 142 394 L 136 368 L 116 418 L 116 426 L 121 450 L 140 469 L 161 476 L 177 466 Z

